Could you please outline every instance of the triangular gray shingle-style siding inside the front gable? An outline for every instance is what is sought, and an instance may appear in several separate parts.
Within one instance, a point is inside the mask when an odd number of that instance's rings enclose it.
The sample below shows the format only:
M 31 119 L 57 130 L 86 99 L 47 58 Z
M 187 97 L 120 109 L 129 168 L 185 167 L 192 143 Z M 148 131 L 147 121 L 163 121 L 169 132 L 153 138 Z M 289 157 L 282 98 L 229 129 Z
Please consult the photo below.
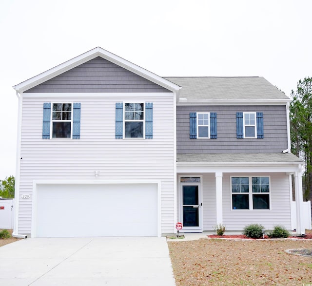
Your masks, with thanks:
M 25 93 L 158 93 L 169 90 L 102 57 L 91 59 Z

